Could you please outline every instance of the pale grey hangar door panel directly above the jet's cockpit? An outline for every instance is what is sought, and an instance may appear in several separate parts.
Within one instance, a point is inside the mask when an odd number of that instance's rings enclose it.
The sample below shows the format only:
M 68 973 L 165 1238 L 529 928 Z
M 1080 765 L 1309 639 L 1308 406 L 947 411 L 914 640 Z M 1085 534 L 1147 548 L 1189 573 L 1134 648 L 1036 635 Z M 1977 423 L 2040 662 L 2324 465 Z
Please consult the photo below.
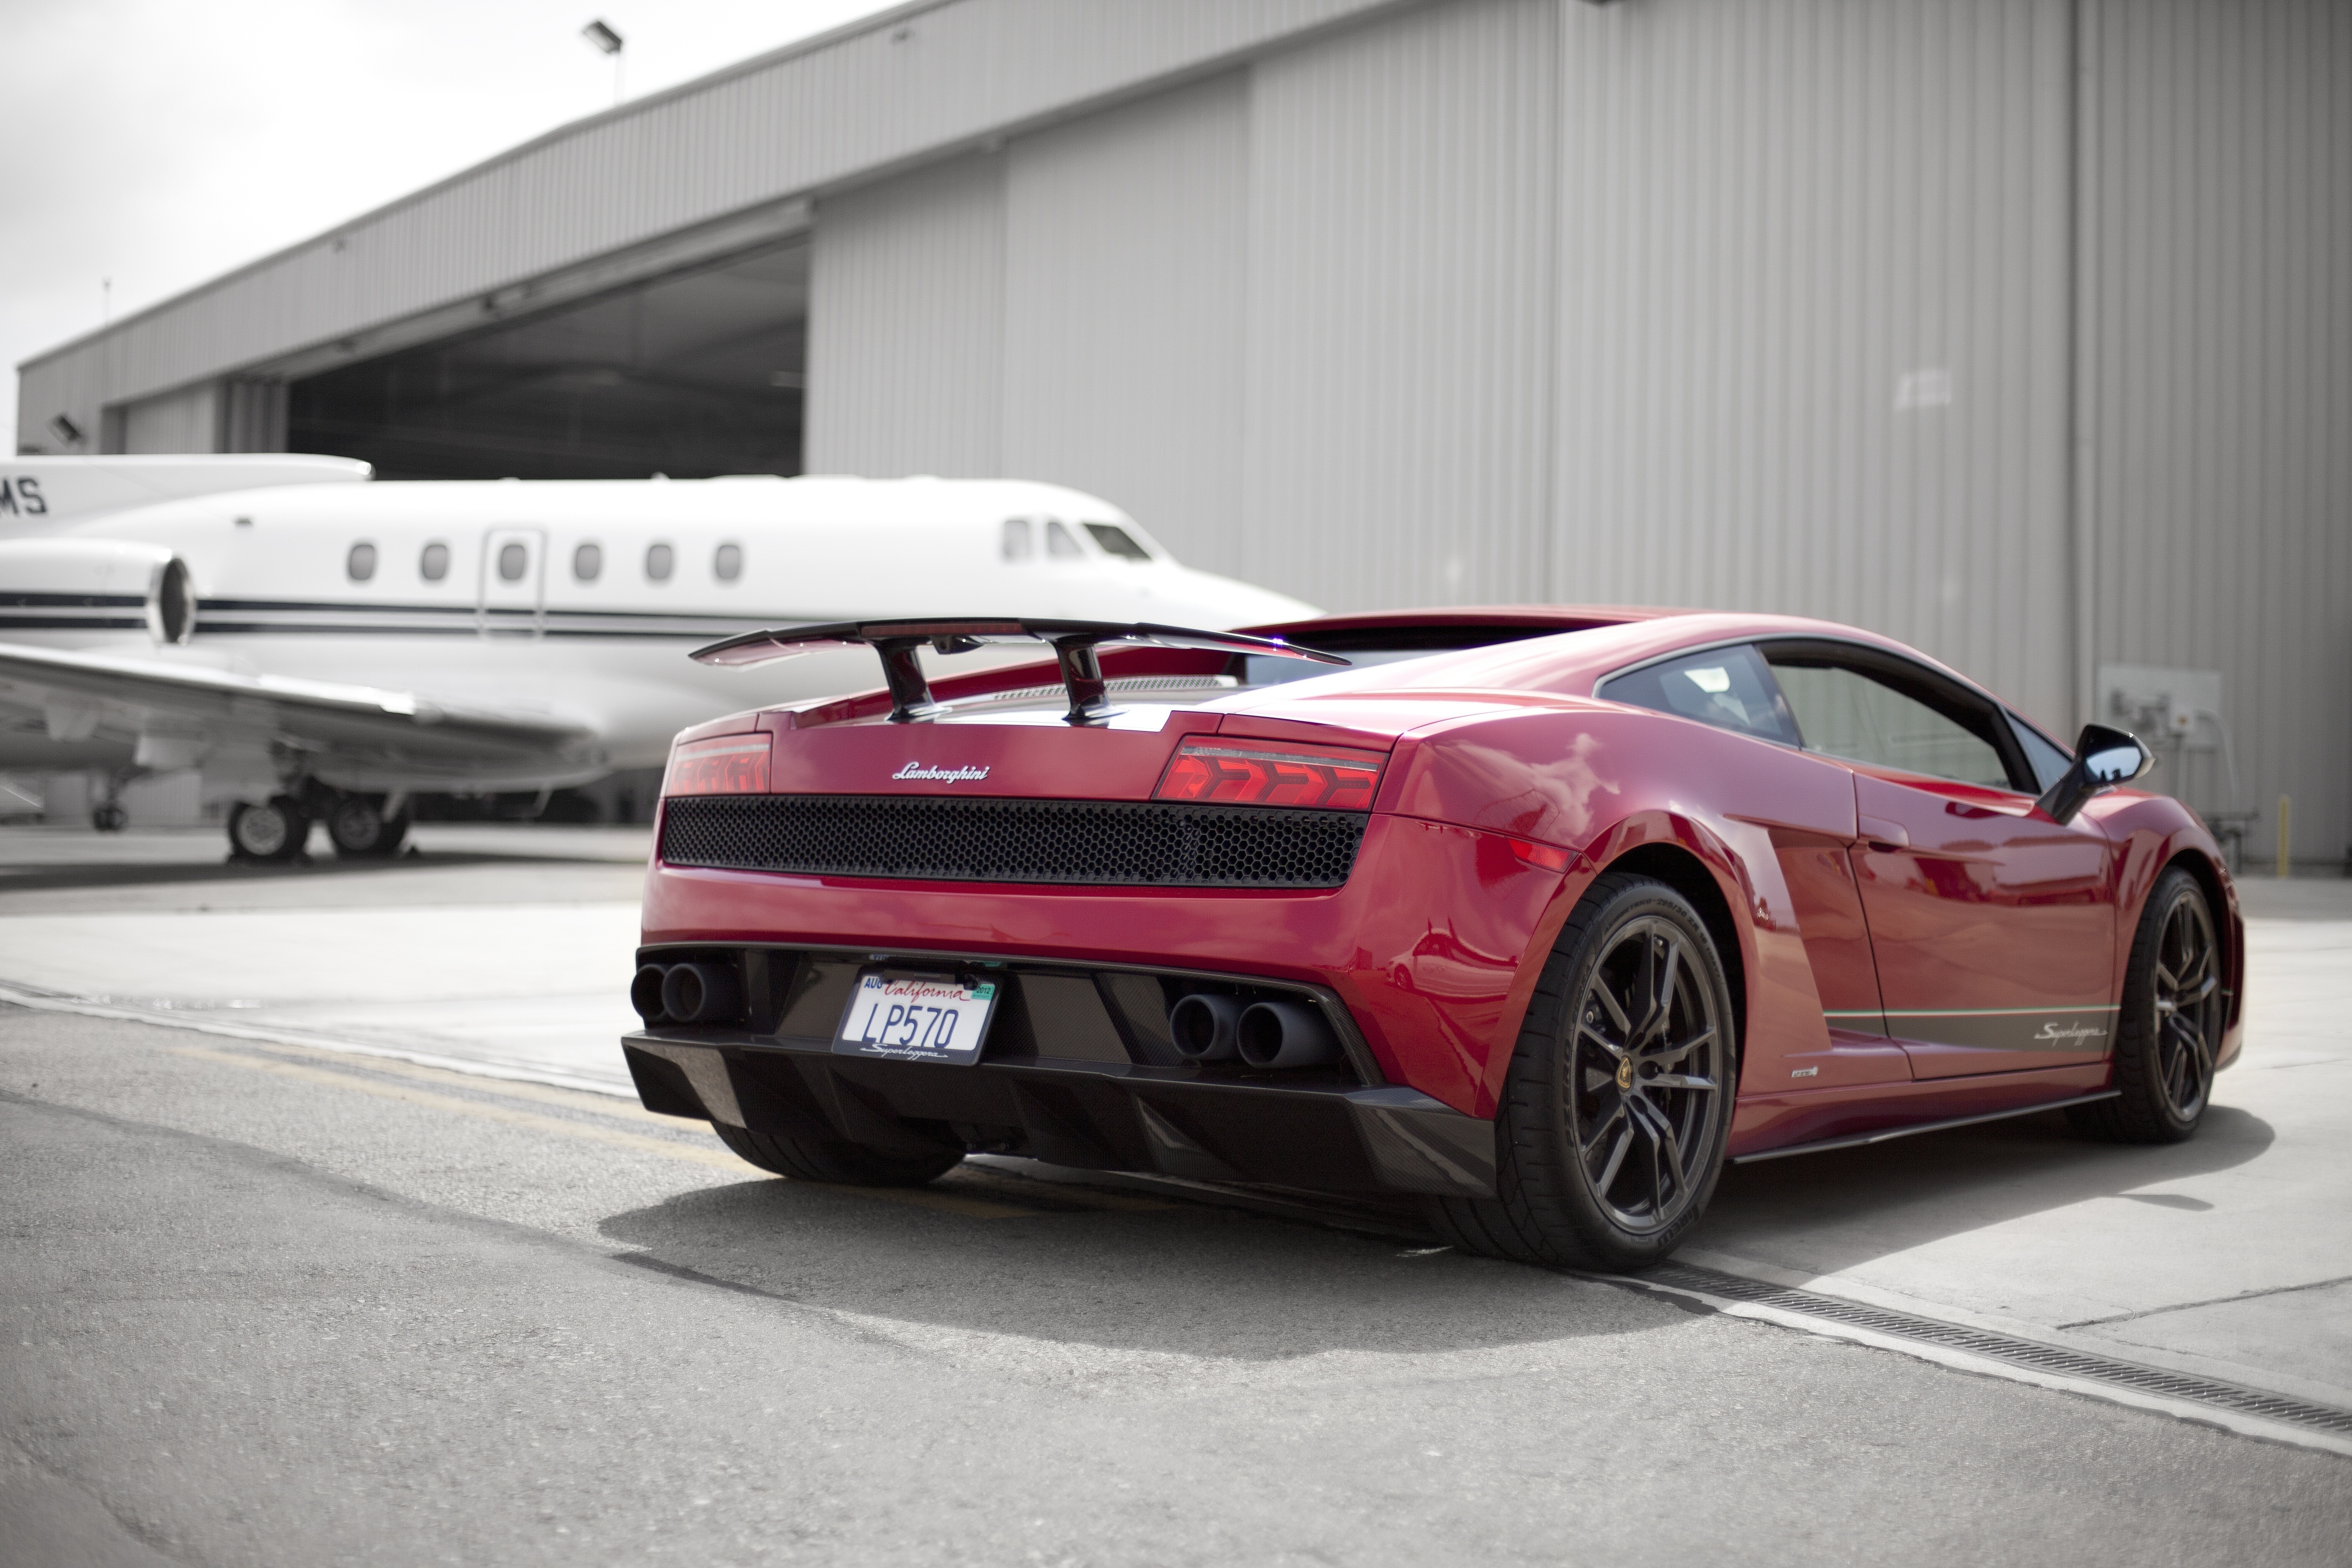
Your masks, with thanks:
M 1004 473 L 1115 498 L 1242 567 L 1249 89 L 1197 87 L 1007 150 Z

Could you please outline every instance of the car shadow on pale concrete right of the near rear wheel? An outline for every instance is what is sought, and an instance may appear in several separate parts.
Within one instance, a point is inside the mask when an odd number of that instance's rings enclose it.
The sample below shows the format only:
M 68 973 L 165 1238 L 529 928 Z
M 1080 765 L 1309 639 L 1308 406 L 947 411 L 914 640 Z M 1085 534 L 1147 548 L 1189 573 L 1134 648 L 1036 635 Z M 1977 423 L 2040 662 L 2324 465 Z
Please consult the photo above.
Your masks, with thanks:
M 2230 1105 L 2169 1145 L 2093 1143 L 2051 1112 L 1731 1166 L 1689 1246 L 1773 1262 L 1799 1255 L 1804 1269 L 1830 1274 L 2091 1199 L 2204 1211 L 2204 1199 L 2138 1190 L 2241 1166 L 2274 1140 L 2267 1121 Z

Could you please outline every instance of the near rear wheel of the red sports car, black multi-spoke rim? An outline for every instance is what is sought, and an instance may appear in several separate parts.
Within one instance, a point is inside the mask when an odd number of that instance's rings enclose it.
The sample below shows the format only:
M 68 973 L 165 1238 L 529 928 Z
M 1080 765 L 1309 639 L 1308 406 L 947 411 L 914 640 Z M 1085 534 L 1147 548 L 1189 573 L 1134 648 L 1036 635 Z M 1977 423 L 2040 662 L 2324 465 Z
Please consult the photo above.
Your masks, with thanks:
M 1519 1027 L 1496 1117 L 1496 1197 L 1432 1199 L 1430 1220 L 1489 1258 L 1661 1262 L 1715 1197 L 1736 1088 L 1738 1016 L 1708 922 L 1663 882 L 1599 877 Z

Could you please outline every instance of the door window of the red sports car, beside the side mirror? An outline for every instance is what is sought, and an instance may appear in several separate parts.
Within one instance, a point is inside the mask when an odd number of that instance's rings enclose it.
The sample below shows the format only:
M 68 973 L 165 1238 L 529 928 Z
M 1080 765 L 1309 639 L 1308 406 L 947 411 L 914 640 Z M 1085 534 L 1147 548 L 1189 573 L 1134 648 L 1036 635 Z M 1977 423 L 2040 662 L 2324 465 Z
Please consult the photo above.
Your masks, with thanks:
M 1910 682 L 1870 658 L 1769 644 L 1764 658 L 1788 693 L 1806 750 L 1987 790 L 2016 788 L 1992 738 L 1992 712 L 1971 715 L 1957 698 L 1929 703 L 1936 693 L 1926 672 Z

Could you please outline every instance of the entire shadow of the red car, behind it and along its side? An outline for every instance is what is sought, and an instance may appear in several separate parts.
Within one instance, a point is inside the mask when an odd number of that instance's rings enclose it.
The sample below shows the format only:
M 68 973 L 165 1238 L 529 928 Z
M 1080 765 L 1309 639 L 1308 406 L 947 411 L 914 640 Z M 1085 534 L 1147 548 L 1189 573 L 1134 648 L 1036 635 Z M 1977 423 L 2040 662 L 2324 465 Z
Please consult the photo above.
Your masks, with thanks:
M 2272 1128 L 2216 1107 L 2169 1147 L 2074 1138 L 2058 1117 L 1733 1168 L 1691 1246 L 1802 1251 L 1806 1267 L 2256 1159 Z M 1028 1208 L 976 1218 L 866 1192 L 750 1180 L 602 1222 L 633 1262 L 898 1324 L 1214 1359 L 1430 1352 L 1672 1328 L 1663 1298 L 1192 1201 L 1084 1194 L 964 1166 L 927 1190 Z M 2159 1206 L 2194 1206 L 2180 1194 Z M 1094 1201 L 1101 1201 L 1098 1197 Z M 1134 1204 L 1134 1194 L 1110 1201 Z M 1788 1241 L 1799 1246 L 1783 1246 Z

